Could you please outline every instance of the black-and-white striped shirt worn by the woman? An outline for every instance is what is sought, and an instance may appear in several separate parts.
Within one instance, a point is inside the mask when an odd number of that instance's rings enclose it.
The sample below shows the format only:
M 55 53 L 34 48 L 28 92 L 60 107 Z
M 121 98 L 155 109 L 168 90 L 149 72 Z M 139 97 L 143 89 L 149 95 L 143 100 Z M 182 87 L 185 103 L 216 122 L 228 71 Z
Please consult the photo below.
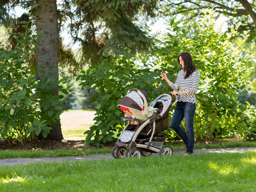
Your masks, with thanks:
M 200 72 L 198 72 L 198 70 L 195 70 L 193 74 L 187 77 L 187 79 L 184 79 L 184 77 L 184 70 L 180 70 L 178 77 L 175 83 L 172 83 L 171 88 L 173 88 L 173 90 L 175 91 L 180 89 L 179 92 L 184 92 L 188 90 L 189 94 L 180 95 L 179 101 L 195 104 L 197 103 L 195 93 L 199 85 Z

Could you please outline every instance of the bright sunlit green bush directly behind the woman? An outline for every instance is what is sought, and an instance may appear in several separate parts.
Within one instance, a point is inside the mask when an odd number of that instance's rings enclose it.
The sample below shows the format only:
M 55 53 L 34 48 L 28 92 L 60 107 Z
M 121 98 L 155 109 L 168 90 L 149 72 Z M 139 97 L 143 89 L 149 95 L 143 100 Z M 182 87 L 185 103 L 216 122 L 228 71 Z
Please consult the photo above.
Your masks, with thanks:
M 172 28 L 165 41 L 157 49 L 160 62 L 177 60 L 180 52 L 189 52 L 200 71 L 201 81 L 198 88 L 198 105 L 195 113 L 195 134 L 197 140 L 243 136 L 246 126 L 242 124 L 244 106 L 236 101 L 237 93 L 248 86 L 246 62 L 243 44 L 247 34 L 232 44 L 232 35 L 214 29 L 213 11 L 206 10 L 205 17 L 197 22 L 194 31 L 180 28 L 180 22 L 171 22 Z M 189 33 L 187 33 L 189 31 Z M 171 67 L 172 64 L 168 64 Z M 172 74 L 173 75 L 173 74 Z M 236 132 L 236 134 L 235 134 Z M 231 136 L 231 135 L 229 135 Z

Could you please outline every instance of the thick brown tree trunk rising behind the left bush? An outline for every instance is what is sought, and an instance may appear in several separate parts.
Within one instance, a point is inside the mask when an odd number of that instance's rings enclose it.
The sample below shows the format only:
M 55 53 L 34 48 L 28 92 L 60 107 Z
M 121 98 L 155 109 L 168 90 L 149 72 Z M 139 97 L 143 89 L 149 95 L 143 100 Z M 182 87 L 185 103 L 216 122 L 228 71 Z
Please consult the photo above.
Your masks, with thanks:
M 36 0 L 36 28 L 41 31 L 40 40 L 36 42 L 36 77 L 40 80 L 44 79 L 42 73 L 38 72 L 40 66 L 48 68 L 53 65 L 51 71 L 55 75 L 47 74 L 47 77 L 56 77 L 58 79 L 58 51 L 59 51 L 59 31 L 58 31 L 58 15 L 56 0 Z M 42 69 L 42 68 L 41 68 Z M 56 90 L 55 95 L 58 95 Z M 61 141 L 63 135 L 61 133 L 60 124 L 52 126 L 47 138 L 50 140 Z

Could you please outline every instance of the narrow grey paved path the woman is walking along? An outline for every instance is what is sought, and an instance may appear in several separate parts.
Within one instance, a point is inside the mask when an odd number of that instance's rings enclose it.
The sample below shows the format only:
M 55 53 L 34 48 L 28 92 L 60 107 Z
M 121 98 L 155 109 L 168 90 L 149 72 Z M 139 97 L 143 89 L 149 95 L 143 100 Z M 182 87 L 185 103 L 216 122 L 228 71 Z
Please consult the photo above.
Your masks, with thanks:
M 195 149 L 195 153 L 224 153 L 224 152 L 246 152 L 253 150 L 256 152 L 256 147 L 243 147 L 243 148 L 213 148 L 213 149 Z M 182 154 L 183 150 L 177 150 L 173 152 L 173 156 Z M 154 154 L 157 156 L 158 154 Z M 86 161 L 97 159 L 112 159 L 111 154 L 105 155 L 92 155 L 92 156 L 80 156 L 80 157 L 44 157 L 44 158 L 24 158 L 24 159 L 2 159 L 0 160 L 0 166 L 12 166 L 15 164 L 29 164 L 38 162 L 62 162 L 62 161 Z

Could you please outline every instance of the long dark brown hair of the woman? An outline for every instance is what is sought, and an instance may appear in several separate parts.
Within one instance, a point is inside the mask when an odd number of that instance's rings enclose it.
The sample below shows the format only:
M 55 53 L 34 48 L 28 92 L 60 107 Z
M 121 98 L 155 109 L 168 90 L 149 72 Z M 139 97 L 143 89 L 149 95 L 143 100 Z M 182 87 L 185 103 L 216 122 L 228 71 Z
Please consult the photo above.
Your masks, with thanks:
M 180 63 L 180 60 L 179 60 L 180 56 L 184 62 L 184 71 L 186 72 L 186 76 L 184 77 L 184 79 L 187 79 L 196 70 L 196 66 L 193 62 L 191 54 L 189 54 L 188 52 L 182 52 L 182 54 L 178 56 L 179 63 Z

